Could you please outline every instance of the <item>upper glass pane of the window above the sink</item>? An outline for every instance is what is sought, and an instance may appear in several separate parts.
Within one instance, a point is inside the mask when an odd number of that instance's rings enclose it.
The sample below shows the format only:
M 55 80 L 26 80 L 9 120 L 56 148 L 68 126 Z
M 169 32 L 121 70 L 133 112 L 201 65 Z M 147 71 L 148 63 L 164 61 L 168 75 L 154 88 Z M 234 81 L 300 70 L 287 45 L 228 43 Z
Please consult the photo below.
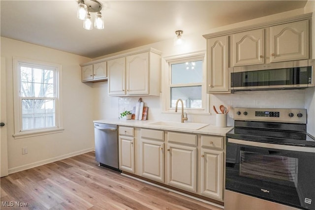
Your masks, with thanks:
M 202 60 L 171 65 L 172 84 L 202 83 Z

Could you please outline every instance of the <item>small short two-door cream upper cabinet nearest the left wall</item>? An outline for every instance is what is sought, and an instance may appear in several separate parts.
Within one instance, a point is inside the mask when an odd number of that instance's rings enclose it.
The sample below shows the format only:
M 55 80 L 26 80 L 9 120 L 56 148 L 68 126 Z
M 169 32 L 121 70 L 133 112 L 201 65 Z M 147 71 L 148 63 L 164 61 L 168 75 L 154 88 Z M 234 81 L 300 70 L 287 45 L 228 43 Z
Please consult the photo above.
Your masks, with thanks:
M 82 82 L 100 82 L 107 80 L 107 62 L 96 62 L 81 67 Z

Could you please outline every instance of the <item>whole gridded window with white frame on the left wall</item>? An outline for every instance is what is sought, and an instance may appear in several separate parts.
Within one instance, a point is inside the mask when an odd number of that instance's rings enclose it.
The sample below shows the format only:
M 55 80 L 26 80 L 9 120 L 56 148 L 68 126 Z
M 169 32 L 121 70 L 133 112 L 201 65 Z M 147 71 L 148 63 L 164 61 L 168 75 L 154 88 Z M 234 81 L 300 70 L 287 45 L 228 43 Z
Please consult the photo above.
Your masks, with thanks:
M 14 58 L 14 70 L 15 137 L 60 130 L 61 66 Z

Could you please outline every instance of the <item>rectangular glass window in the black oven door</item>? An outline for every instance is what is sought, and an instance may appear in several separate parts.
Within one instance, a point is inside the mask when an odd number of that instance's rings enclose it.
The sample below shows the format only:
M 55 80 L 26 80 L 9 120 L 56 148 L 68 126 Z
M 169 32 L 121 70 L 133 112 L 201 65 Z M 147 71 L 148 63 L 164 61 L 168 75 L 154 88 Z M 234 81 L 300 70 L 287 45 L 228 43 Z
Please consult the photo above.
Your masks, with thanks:
M 240 176 L 297 185 L 297 158 L 240 151 L 240 163 Z

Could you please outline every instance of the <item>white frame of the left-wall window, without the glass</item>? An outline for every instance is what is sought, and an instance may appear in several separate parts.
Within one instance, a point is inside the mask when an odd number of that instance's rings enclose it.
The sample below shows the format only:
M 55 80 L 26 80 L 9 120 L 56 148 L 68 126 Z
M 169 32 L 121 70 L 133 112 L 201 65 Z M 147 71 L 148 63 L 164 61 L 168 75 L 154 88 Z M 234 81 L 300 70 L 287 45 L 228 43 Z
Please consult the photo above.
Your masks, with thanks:
M 54 127 L 46 127 L 40 129 L 30 129 L 22 131 L 22 97 L 20 96 L 21 92 L 21 73 L 20 73 L 20 63 L 24 63 L 27 65 L 32 66 L 46 66 L 50 69 L 55 70 L 55 123 L 56 126 Z M 39 136 L 39 135 L 46 135 L 51 133 L 59 133 L 62 132 L 63 123 L 62 123 L 62 106 L 61 106 L 61 76 L 62 74 L 62 65 L 56 63 L 48 63 L 38 60 L 31 60 L 31 59 L 24 59 L 13 57 L 13 102 L 14 102 L 14 134 L 13 137 L 15 139 L 32 137 L 32 136 Z

